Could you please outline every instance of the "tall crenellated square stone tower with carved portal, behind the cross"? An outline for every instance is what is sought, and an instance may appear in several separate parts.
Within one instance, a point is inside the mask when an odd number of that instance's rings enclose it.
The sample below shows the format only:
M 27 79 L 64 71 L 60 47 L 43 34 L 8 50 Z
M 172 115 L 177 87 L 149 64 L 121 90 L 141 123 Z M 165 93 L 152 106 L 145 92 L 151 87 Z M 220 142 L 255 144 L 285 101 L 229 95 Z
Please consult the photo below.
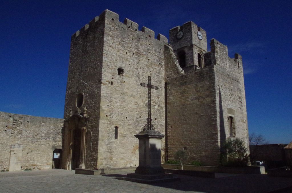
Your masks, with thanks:
M 164 45 L 167 38 L 105 10 L 72 35 L 63 137 L 64 169 L 138 166 L 135 134 L 147 123 L 165 132 Z M 163 143 L 164 144 L 164 141 Z M 164 145 L 163 145 L 164 146 Z

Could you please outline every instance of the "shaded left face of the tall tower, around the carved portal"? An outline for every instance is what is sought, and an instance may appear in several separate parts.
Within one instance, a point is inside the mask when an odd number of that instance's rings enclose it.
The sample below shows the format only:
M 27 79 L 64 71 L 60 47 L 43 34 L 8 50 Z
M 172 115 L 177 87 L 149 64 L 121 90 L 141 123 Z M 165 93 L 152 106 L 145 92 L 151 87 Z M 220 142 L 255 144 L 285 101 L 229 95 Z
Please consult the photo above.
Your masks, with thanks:
M 99 116 L 100 116 L 100 90 L 102 84 L 103 37 L 105 19 L 97 16 L 74 33 L 71 37 L 70 57 L 67 87 L 65 95 L 64 119 L 68 120 L 70 112 L 77 112 L 76 97 L 84 94 L 84 107 L 89 117 L 86 146 L 86 168 L 97 168 Z M 69 128 L 64 124 L 62 168 L 67 168 L 69 162 Z M 71 161 L 71 160 L 70 160 Z

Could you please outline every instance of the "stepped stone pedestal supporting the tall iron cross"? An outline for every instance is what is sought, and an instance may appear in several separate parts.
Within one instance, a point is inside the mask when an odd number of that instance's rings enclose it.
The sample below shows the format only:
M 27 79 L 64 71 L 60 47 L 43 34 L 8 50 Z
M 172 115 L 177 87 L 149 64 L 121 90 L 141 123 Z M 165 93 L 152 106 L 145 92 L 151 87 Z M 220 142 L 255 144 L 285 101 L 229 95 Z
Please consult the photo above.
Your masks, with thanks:
M 128 173 L 121 180 L 153 183 L 179 180 L 171 173 L 164 173 L 161 167 L 161 139 L 164 137 L 159 131 L 145 130 L 135 135 L 139 139 L 139 166 L 135 173 Z

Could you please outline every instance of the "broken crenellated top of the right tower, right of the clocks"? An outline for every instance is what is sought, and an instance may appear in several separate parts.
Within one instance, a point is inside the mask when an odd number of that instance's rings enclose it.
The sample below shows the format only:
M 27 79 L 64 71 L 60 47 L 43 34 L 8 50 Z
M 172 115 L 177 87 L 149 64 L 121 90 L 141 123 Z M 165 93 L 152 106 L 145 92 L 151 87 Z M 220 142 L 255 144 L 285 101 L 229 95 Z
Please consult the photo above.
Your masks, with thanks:
M 242 73 L 242 57 L 238 53 L 234 54 L 234 58 L 228 56 L 228 48 L 214 38 L 210 42 L 211 61 L 214 65 L 220 65 L 225 68 L 237 69 Z

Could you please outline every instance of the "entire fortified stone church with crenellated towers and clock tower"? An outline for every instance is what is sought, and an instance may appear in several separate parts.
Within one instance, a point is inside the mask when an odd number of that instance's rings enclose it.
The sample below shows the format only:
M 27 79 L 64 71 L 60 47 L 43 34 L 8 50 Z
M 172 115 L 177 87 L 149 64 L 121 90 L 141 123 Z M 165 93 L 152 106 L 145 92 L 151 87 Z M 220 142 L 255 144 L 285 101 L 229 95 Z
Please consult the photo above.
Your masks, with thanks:
M 58 127 L 61 167 L 138 166 L 134 135 L 147 124 L 148 108 L 153 127 L 165 134 L 162 160 L 184 149 L 189 163 L 218 166 L 226 138 L 248 146 L 241 56 L 228 57 L 215 39 L 210 48 L 206 31 L 193 22 L 170 29 L 168 40 L 127 18 L 119 22 L 110 10 L 74 33 Z

